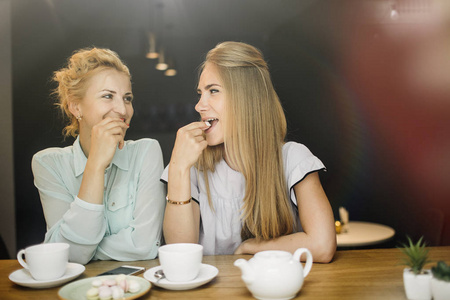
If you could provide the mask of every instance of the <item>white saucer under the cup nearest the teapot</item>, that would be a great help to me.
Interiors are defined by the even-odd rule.
[[[167,280],[166,278],[163,278],[158,281],[158,278],[156,278],[154,274],[156,271],[160,269],[161,266],[148,269],[144,273],[144,278],[156,286],[174,291],[194,289],[207,282],[210,282],[214,277],[217,276],[217,274],[219,274],[219,270],[216,267],[207,264],[202,264],[200,266],[200,273],[194,280],[184,282],[173,282]]]

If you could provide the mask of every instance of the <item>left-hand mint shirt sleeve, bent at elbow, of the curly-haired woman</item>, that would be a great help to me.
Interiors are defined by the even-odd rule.
[[[69,260],[86,264],[94,256],[106,230],[103,205],[78,199],[65,180],[72,168],[51,155],[35,155],[32,160],[34,184],[39,191],[47,233],[44,242],[70,245]],[[71,175],[73,177],[73,174]]]

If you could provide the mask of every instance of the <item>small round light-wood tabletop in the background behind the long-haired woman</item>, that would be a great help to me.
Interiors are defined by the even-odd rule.
[[[380,244],[391,239],[395,230],[389,226],[350,221],[347,225],[347,232],[337,234],[337,245],[339,247],[357,247]]]

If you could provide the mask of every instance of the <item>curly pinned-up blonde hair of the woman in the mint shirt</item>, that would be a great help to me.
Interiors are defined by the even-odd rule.
[[[131,79],[128,67],[122,62],[119,55],[109,49],[84,48],[74,52],[67,60],[67,67],[53,74],[53,80],[58,87],[53,90],[56,96],[56,105],[61,109],[68,124],[63,129],[64,136],[76,137],[79,133],[79,124],[69,110],[71,101],[80,101],[89,85],[89,79],[105,69],[115,69]]]

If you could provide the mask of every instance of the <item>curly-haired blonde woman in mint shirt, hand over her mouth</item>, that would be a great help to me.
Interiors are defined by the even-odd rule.
[[[47,233],[70,244],[69,259],[143,260],[162,239],[162,152],[153,139],[125,141],[133,117],[131,75],[117,53],[76,51],[54,73],[57,105],[72,146],[33,156]]]

